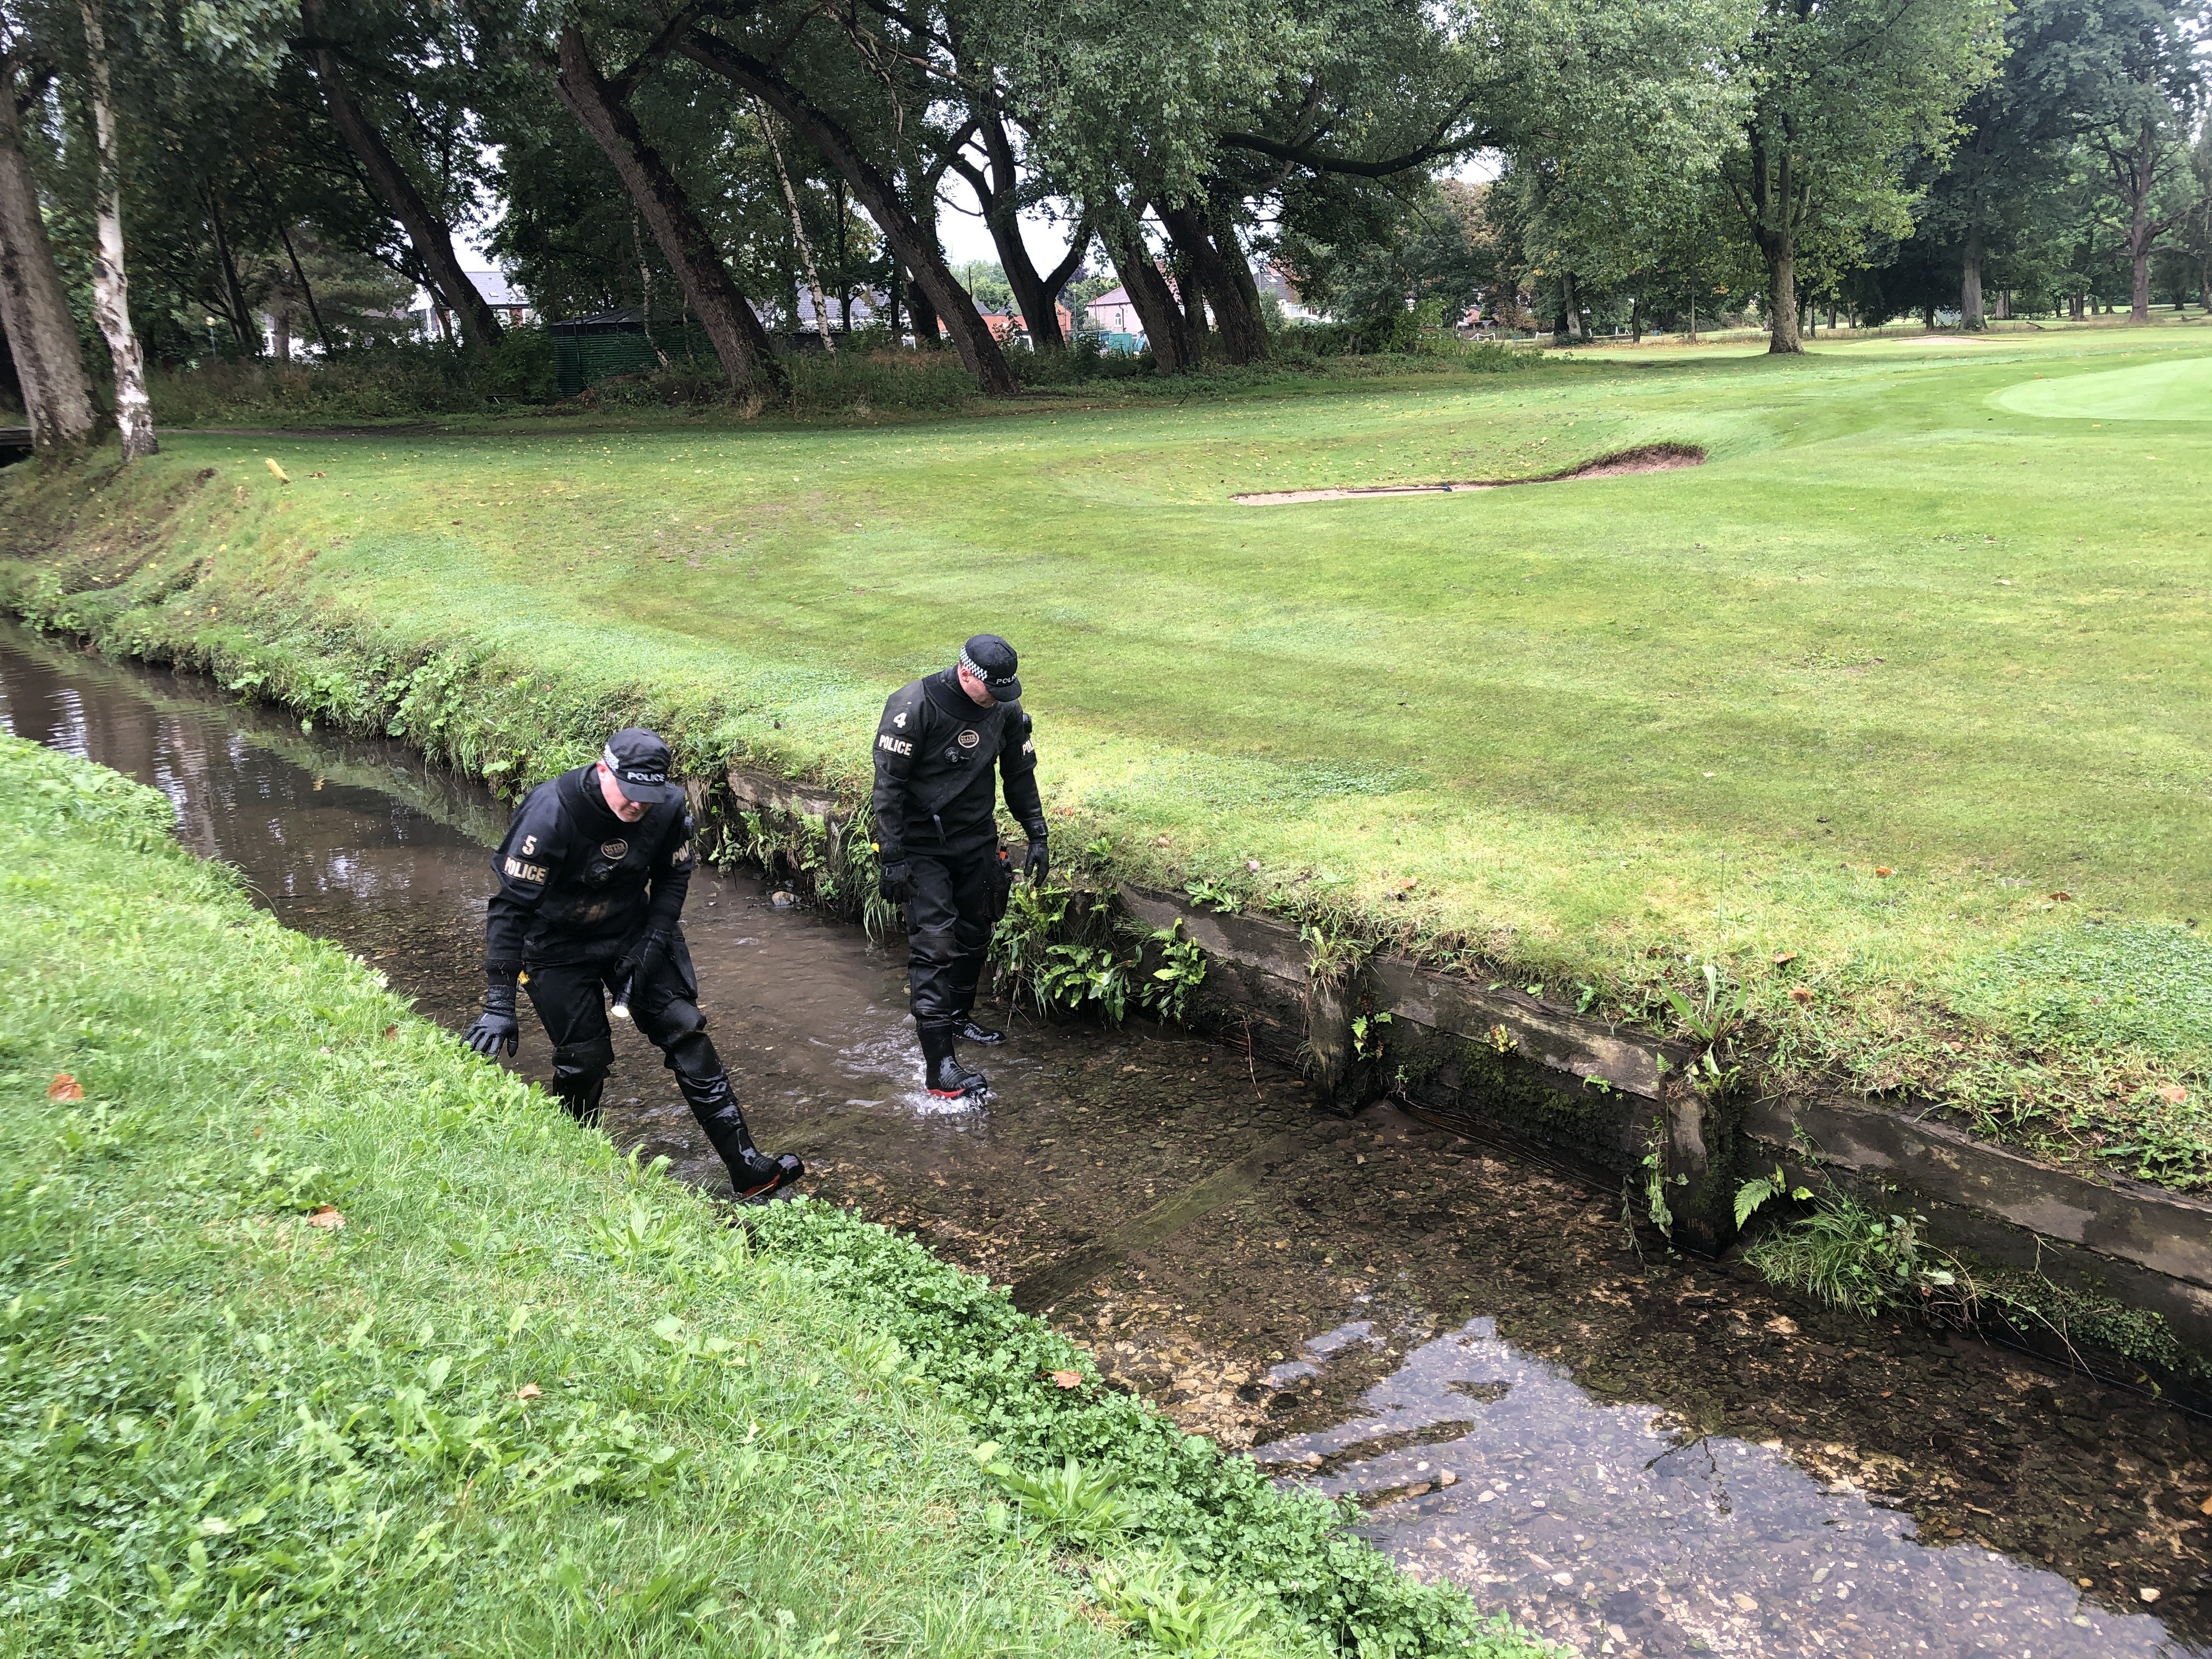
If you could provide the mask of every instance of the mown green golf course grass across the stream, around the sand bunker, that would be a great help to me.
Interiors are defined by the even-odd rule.
[[[2201,1190],[2208,358],[2177,325],[898,425],[186,436],[18,484],[0,580],[502,779],[648,717],[692,763],[858,785],[883,695],[993,628],[1064,849],[1630,1020],[1719,962],[1781,1079]],[[2075,378],[2137,418],[2008,403]],[[1712,460],[1230,500],[1644,442]],[[2126,998],[2088,989],[2112,960]]]

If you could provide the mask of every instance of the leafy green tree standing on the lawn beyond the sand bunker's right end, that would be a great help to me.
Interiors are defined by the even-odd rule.
[[[2004,0],[1759,0],[1752,100],[1721,179],[1767,270],[1770,352],[1801,352],[1798,248],[1911,228],[1905,161],[1942,155],[1995,71]]]

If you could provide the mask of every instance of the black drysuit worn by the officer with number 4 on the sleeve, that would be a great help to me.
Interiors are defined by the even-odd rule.
[[[953,668],[891,692],[876,728],[876,845],[907,865],[914,1024],[951,1029],[975,1006],[998,878],[998,787],[1044,838],[1037,745],[1020,703],[980,708]]]

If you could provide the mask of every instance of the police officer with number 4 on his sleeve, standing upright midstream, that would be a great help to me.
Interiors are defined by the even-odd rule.
[[[1004,1042],[971,1018],[998,916],[998,779],[1029,832],[1029,878],[1044,880],[1037,745],[1022,712],[1013,646],[980,633],[960,661],[900,686],[876,728],[876,849],[883,896],[907,907],[907,980],[931,1095],[980,1095],[989,1079],[953,1044]]]

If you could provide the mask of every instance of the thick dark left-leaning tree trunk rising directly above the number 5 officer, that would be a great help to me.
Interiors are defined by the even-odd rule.
[[[553,75],[560,102],[582,122],[613,164],[622,188],[653,228],[653,241],[684,283],[684,299],[714,345],[730,396],[745,400],[785,387],[768,330],[745,299],[684,186],[661,153],[646,142],[624,97],[599,73],[582,31],[560,33],[560,64]]]

